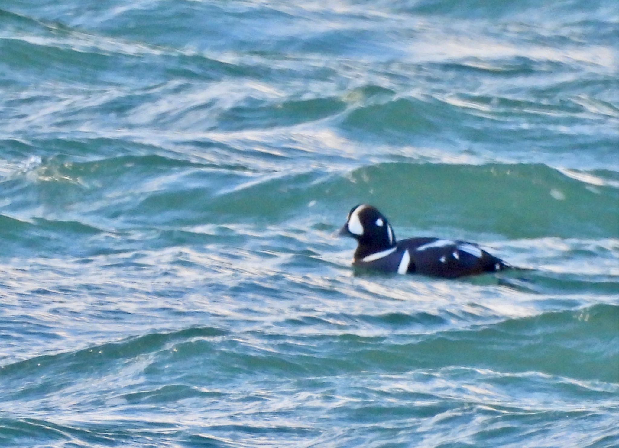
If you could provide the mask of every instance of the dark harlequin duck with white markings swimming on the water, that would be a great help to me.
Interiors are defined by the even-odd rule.
[[[439,238],[410,238],[396,242],[387,218],[367,204],[355,205],[339,235],[358,242],[353,266],[398,274],[455,278],[508,269],[503,260],[477,244]]]

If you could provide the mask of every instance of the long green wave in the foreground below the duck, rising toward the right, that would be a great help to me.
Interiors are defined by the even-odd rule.
[[[140,362],[149,374],[175,360],[175,363],[219,363],[219,369],[246,373],[256,370],[292,375],[320,372],[338,375],[350,371],[401,373],[410,369],[459,366],[509,373],[531,371],[586,381],[619,381],[615,369],[619,363],[619,306],[616,304],[542,312],[473,324],[468,329],[445,328],[445,319],[450,319],[447,315],[430,316],[430,321],[428,316],[425,312],[349,316],[371,325],[404,325],[409,329],[409,332],[376,337],[350,334],[345,327],[338,333],[300,335],[256,330],[230,332],[214,327],[152,333],[7,364],[0,369],[0,381],[12,384],[25,378],[39,378],[28,386],[37,393],[43,384],[52,389],[65,387],[60,381],[64,376],[105,376],[122,369],[127,361],[143,359],[149,359]],[[287,322],[286,326],[292,330],[288,324],[316,325],[316,321]],[[410,332],[415,328],[417,332]],[[428,332],[429,329],[432,331]],[[40,371],[46,375],[40,377]],[[181,377],[183,372],[171,372],[170,376]],[[50,381],[56,382],[56,386]]]

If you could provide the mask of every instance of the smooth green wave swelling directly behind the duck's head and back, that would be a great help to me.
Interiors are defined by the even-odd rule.
[[[617,197],[614,186],[592,187],[544,165],[396,162],[364,166],[346,176],[267,176],[220,192],[204,205],[214,212],[210,219],[273,220],[310,203],[335,216],[350,204],[370,202],[396,226],[423,231],[451,227],[504,238],[613,238],[619,225]]]

